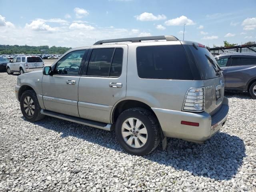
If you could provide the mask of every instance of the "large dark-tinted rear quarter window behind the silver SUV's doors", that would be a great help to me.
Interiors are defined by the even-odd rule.
[[[136,54],[140,78],[194,79],[182,45],[141,46]]]

